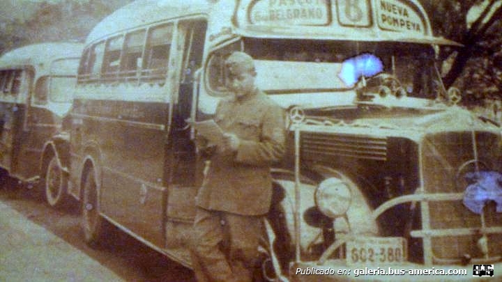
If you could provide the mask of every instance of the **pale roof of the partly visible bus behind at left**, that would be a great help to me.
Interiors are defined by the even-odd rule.
[[[82,56],[82,43],[50,42],[26,45],[13,49],[0,57],[0,68],[21,65],[50,65],[59,58],[79,58]]]

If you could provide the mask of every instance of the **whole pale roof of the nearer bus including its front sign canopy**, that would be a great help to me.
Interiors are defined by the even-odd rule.
[[[335,0],[137,0],[103,19],[91,31],[86,44],[166,19],[209,15],[208,38],[214,45],[236,35],[459,45],[433,36],[429,17],[417,0],[350,2],[358,5],[358,17],[349,14],[353,7],[347,7],[348,3]]]

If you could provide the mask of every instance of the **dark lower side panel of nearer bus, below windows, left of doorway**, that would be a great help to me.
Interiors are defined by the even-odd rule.
[[[77,99],[74,105],[73,146],[99,149],[101,212],[161,245],[167,104]]]

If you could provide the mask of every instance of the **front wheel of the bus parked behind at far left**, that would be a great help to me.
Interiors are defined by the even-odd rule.
[[[51,207],[62,207],[68,201],[68,175],[53,156],[45,171],[45,200]]]

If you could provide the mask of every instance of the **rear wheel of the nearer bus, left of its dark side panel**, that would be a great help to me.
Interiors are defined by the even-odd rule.
[[[82,230],[91,247],[102,246],[106,238],[106,220],[100,215],[98,185],[91,169],[85,175],[82,191]]]

